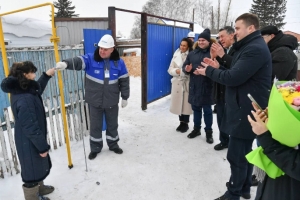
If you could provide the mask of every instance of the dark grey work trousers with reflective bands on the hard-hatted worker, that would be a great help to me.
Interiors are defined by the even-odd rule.
[[[90,147],[92,152],[100,152],[103,148],[102,123],[103,113],[106,121],[106,142],[110,149],[118,148],[118,115],[119,106],[98,108],[90,105]]]

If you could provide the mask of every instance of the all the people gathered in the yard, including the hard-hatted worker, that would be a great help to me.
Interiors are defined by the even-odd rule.
[[[267,175],[257,189],[256,200],[300,199],[300,151],[272,139],[266,127],[267,116],[253,108],[250,93],[262,108],[268,104],[273,77],[280,80],[296,78],[297,57],[293,49],[297,40],[274,26],[259,29],[256,15],[245,13],[235,21],[235,30],[226,26],[219,30],[218,42],[211,39],[209,29],[198,36],[196,45],[183,38],[172,58],[168,73],[173,76],[170,111],[179,116],[179,132],[189,129],[193,114],[193,130],[187,135],[201,135],[202,112],[206,142],[213,141],[213,114],[217,105],[220,143],[214,149],[228,148],[227,159],[231,176],[227,191],[216,200],[250,199],[253,165],[245,155],[252,150],[255,138],[264,153],[285,175],[271,179]],[[41,94],[56,70],[84,70],[85,101],[90,106],[90,149],[93,160],[103,148],[102,119],[107,123],[106,140],[109,150],[122,154],[119,147],[118,111],[127,106],[129,75],[110,35],[104,35],[94,53],[58,62],[35,81],[37,68],[30,61],[14,63],[1,89],[11,93],[15,118],[15,141],[24,182],[26,200],[48,200],[44,195],[54,191],[44,185],[51,160],[48,154],[47,124]],[[252,111],[255,109],[256,111]],[[251,112],[252,111],[252,112]],[[254,116],[251,118],[249,115]],[[104,115],[103,115],[104,114]]]

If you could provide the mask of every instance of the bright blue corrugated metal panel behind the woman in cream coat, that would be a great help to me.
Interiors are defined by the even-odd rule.
[[[147,31],[147,102],[171,93],[168,74],[174,51],[190,29],[160,24],[148,24]]]

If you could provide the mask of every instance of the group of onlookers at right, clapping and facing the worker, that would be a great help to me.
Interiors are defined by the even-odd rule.
[[[189,33],[187,38],[192,35]],[[194,127],[187,137],[199,136],[203,110],[206,141],[213,143],[211,105],[216,104],[220,143],[214,149],[228,148],[231,168],[231,176],[224,184],[227,191],[216,200],[251,198],[255,176],[245,156],[252,150],[255,138],[264,153],[286,173],[277,179],[266,176],[258,184],[256,200],[300,199],[300,151],[272,139],[266,127],[267,116],[247,97],[251,94],[262,108],[267,108],[273,79],[296,79],[297,57],[293,50],[298,46],[297,39],[276,26],[260,29],[258,17],[245,13],[236,19],[235,30],[230,26],[220,29],[218,40],[213,41],[205,29],[198,36],[196,48],[182,48],[183,43],[188,43],[184,38],[174,53],[168,72],[173,76],[170,111],[180,120],[176,130],[188,130],[192,109]]]

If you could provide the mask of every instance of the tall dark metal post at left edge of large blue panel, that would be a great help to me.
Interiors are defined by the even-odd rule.
[[[148,21],[147,21],[147,14],[142,13],[141,14],[141,63],[142,63],[142,110],[147,109],[147,71],[148,71],[148,65],[147,65],[147,35],[148,35]]]

